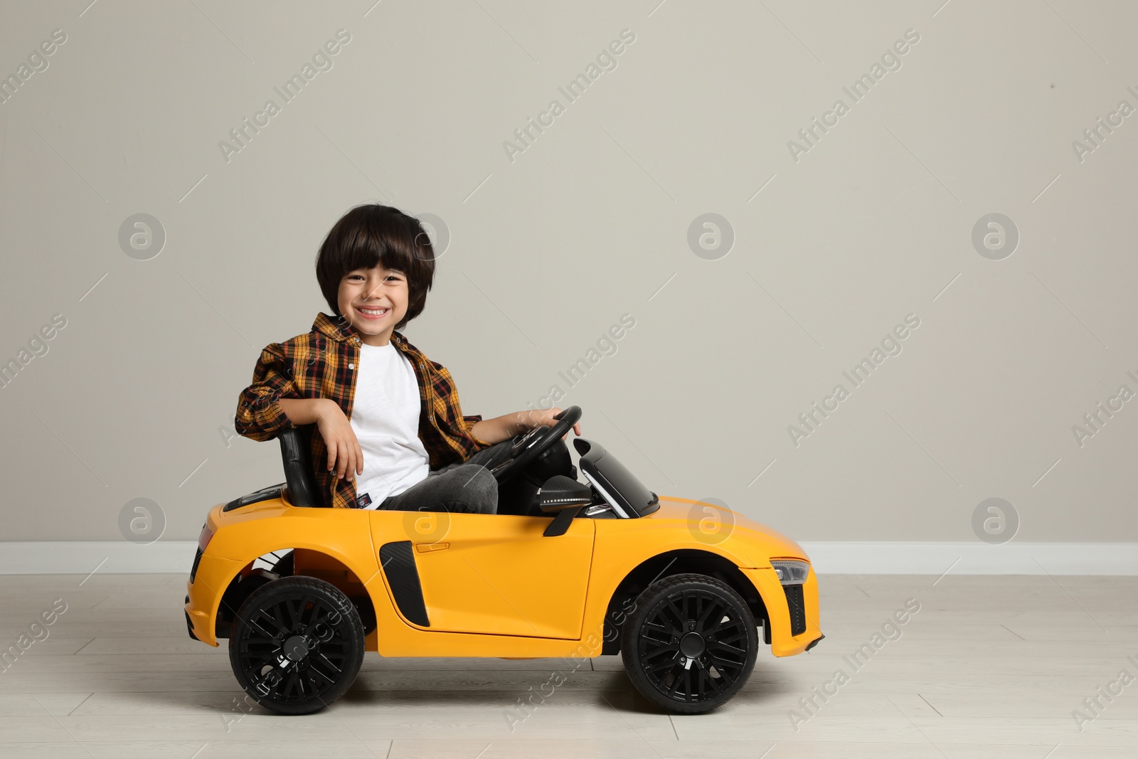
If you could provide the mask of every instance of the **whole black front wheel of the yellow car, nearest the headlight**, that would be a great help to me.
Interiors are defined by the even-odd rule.
[[[751,676],[759,636],[747,602],[706,575],[657,580],[621,628],[625,670],[641,695],[679,715],[726,703]]]

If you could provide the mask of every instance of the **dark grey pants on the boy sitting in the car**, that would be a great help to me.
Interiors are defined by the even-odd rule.
[[[379,509],[390,511],[448,511],[469,514],[497,512],[497,480],[489,470],[510,457],[513,440],[495,443],[462,462],[439,467]]]

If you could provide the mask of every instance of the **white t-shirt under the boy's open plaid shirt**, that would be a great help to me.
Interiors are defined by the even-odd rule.
[[[411,361],[390,341],[362,344],[355,371],[351,424],[363,451],[356,502],[362,509],[377,509],[387,496],[427,479],[430,471],[430,457],[419,439],[419,382]]]

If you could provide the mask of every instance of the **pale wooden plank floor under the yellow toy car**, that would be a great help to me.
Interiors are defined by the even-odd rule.
[[[1138,578],[934,580],[823,577],[826,640],[790,659],[764,647],[747,687],[702,717],[652,709],[617,657],[574,671],[374,653],[331,709],[280,717],[246,703],[224,647],[187,636],[183,576],[2,576],[0,649],[56,599],[67,610],[0,673],[0,757],[1136,756],[1138,682],[1110,702],[1098,688],[1116,692],[1122,669],[1138,677]],[[921,607],[900,637],[887,626],[896,640],[874,641],[909,599]],[[844,658],[874,642],[859,668]],[[554,670],[568,679],[522,719],[519,698]],[[1083,704],[1096,696],[1097,717]],[[1073,710],[1095,718],[1080,729]]]

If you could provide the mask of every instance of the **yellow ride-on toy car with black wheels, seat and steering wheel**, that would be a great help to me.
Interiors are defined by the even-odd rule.
[[[516,438],[492,470],[500,482],[558,447],[568,456],[562,436],[579,418],[571,406]],[[701,713],[747,682],[759,627],[776,657],[823,637],[798,544],[729,510],[658,497],[595,443],[574,439],[586,481],[576,467],[547,479],[531,512],[369,511],[312,508],[311,431],[279,438],[286,482],[211,509],[187,586],[190,637],[229,638],[233,674],[269,709],[330,704],[364,651],[619,652],[649,701]]]

